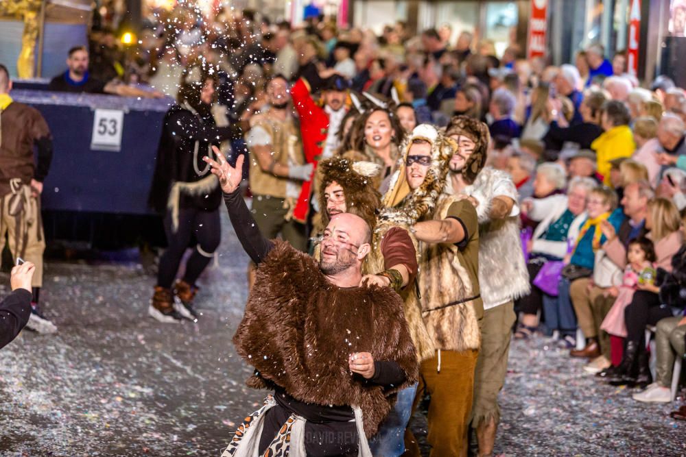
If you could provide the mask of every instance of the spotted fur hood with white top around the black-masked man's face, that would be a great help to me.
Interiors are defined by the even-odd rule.
[[[405,177],[405,160],[414,140],[429,142],[431,165],[421,186],[411,190]],[[388,192],[383,195],[382,203],[386,209],[381,212],[380,219],[409,226],[433,214],[436,201],[445,186],[448,161],[456,148],[456,143],[438,133],[435,127],[429,124],[414,127],[412,135],[403,144],[401,163],[391,177]]]

